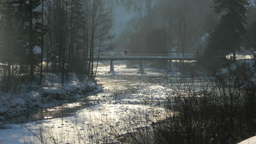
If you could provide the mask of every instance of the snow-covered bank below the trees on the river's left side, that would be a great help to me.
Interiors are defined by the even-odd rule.
[[[32,109],[65,103],[68,100],[85,97],[98,91],[101,91],[101,87],[89,80],[81,82],[76,76],[72,76],[62,86],[59,77],[54,74],[46,74],[41,85],[21,84],[17,94],[0,92],[0,120]]]

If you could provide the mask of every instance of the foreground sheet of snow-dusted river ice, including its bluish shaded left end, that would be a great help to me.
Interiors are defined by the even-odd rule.
[[[149,126],[154,120],[152,116],[162,112],[164,110],[161,108],[146,105],[98,104],[70,117],[5,125],[7,129],[0,130],[0,137],[5,144],[21,144],[24,141],[39,143],[33,133],[39,137],[42,135],[42,139],[48,143],[53,140],[51,137],[57,143],[90,143],[92,140],[103,141],[104,137],[108,138],[113,133],[113,137],[109,137],[113,140],[114,137],[134,131],[134,128],[141,128],[141,119]]]

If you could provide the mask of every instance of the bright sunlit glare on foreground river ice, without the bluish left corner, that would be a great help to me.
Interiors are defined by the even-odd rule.
[[[81,110],[72,117],[44,120],[40,124],[29,123],[26,127],[38,135],[38,130],[41,130],[45,136],[43,139],[54,135],[58,142],[114,142],[118,136],[140,129],[141,122],[144,127],[145,124],[150,126],[154,121],[153,116],[162,112],[164,110],[161,108],[146,105],[99,104]],[[25,137],[26,140],[31,138],[29,135]]]

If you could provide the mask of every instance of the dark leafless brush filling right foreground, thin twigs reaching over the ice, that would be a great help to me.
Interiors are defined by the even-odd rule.
[[[164,83],[169,91],[165,101],[145,98],[143,104],[133,106],[132,115],[109,111],[90,115],[87,124],[85,119],[75,119],[73,136],[57,135],[50,129],[34,135],[48,143],[236,143],[254,135],[256,128],[255,71],[250,67],[228,62],[212,68],[211,77],[172,75]],[[65,131],[64,125],[60,127]]]

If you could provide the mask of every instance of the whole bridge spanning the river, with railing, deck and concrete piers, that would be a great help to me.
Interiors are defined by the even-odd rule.
[[[89,56],[88,56],[89,57]],[[113,60],[140,60],[139,73],[146,74],[144,71],[143,60],[170,60],[171,68],[173,69],[172,60],[179,61],[198,61],[201,55],[181,55],[181,54],[125,54],[125,55],[99,55],[94,56],[94,60],[110,60],[110,72],[115,74]]]

